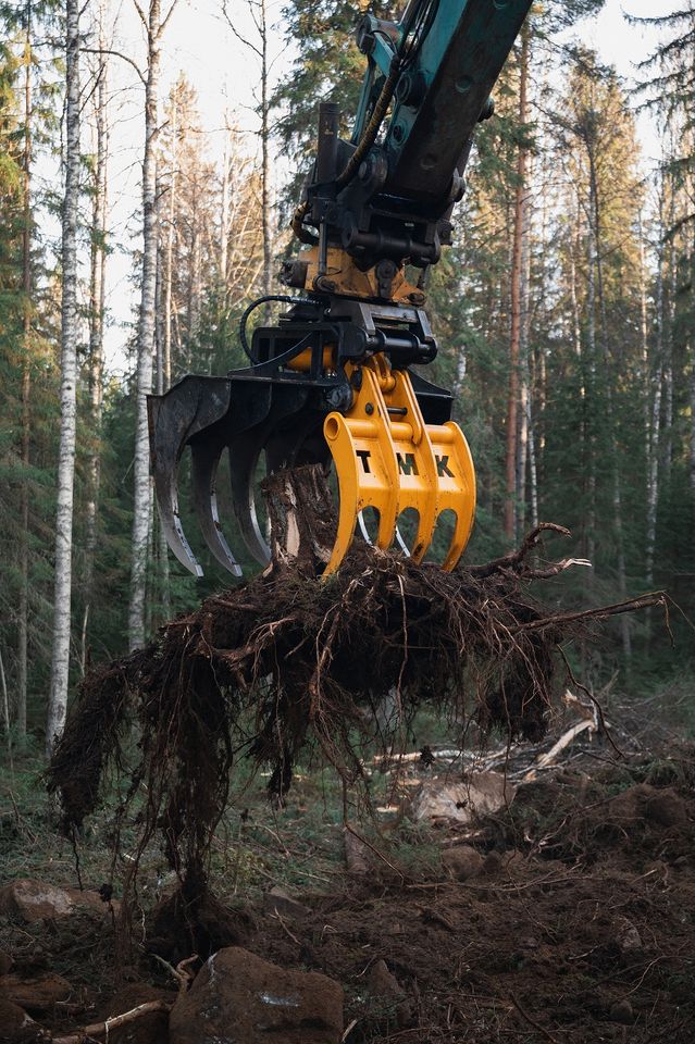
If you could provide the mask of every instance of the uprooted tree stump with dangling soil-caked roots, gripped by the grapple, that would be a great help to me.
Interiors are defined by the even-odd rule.
[[[187,907],[206,894],[212,838],[239,758],[271,767],[276,800],[308,744],[359,786],[364,745],[393,746],[377,713],[388,693],[401,723],[429,705],[475,721],[483,734],[498,728],[510,739],[539,739],[556,672],[568,669],[560,644],[592,618],[661,600],[545,610],[529,581],[573,563],[530,561],[545,532],[567,535],[553,524],[513,554],[452,573],[356,545],[323,581],[318,572],[334,521],[322,472],[277,473],[265,496],[272,566],[169,623],[147,647],[92,670],[48,771],[74,830],[97,806],[108,765],[121,763],[135,718],[139,757],[121,819],[136,794],[146,798],[131,880],[159,831]]]

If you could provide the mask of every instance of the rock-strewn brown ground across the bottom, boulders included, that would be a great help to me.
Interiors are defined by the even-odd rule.
[[[430,809],[426,826],[405,815],[417,797],[404,807],[392,793],[378,830],[324,816],[309,836],[318,798],[299,780],[284,813],[237,812],[219,900],[196,925],[171,883],[150,882],[131,946],[108,890],[57,887],[69,849],[45,859],[40,883],[5,862],[0,1040],[104,1041],[104,1020],[127,1014],[111,1044],[691,1044],[695,749],[619,756],[583,742],[589,731],[545,767],[564,726],[541,751],[488,758],[485,774],[507,779],[499,807],[466,798],[480,767],[413,758],[400,793],[424,784],[454,809]],[[2,822],[18,868],[21,809]],[[98,888],[97,866],[83,857],[82,871]]]

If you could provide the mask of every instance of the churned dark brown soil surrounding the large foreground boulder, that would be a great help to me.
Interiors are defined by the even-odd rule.
[[[84,1024],[95,1007],[113,1011],[124,979],[169,985],[158,995],[173,1003],[153,949],[174,962],[200,947],[201,968],[206,947],[240,943],[337,982],[346,1044],[691,1044],[695,750],[606,757],[521,784],[508,809],[473,824],[481,858],[463,880],[444,867],[422,879],[394,872],[389,854],[390,866],[300,893],[281,916],[272,904],[239,912],[219,899],[197,924],[170,897],[147,915],[146,944],[127,966],[84,913],[72,930],[5,918],[0,947],[13,975],[70,979],[83,1014],[36,1015],[54,1031]],[[435,836],[456,850],[451,830]]]

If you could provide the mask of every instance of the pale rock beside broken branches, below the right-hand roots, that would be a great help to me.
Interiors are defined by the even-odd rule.
[[[469,772],[460,783],[429,780],[414,794],[409,815],[415,820],[470,823],[506,807],[516,793],[501,772]]]

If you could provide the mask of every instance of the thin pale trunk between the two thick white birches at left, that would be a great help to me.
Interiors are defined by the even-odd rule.
[[[103,11],[99,12],[98,86],[95,97],[95,181],[91,207],[91,256],[89,277],[89,423],[91,445],[87,458],[88,499],[85,519],[85,609],[82,627],[80,667],[86,669],[91,612],[95,555],[97,549],[97,511],[101,480],[101,419],[103,400],[103,318],[106,306],[107,265],[107,157],[109,128],[107,125],[108,71],[103,54],[107,40],[103,33]]]

